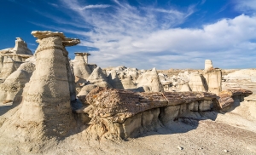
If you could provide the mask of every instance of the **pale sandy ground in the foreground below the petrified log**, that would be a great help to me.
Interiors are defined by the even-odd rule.
[[[222,114],[219,114],[222,115]],[[220,116],[218,119],[234,115]],[[236,119],[236,118],[235,118]],[[179,120],[128,141],[94,141],[85,133],[61,141],[47,154],[256,154],[256,132],[225,120]],[[236,126],[237,125],[237,126]],[[253,123],[256,129],[256,123]],[[179,148],[178,148],[179,147]]]

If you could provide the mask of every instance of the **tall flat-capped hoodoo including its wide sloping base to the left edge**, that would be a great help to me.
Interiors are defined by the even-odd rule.
[[[39,43],[35,71],[22,95],[18,99],[15,96],[14,109],[0,119],[0,146],[19,145],[25,152],[38,152],[46,141],[54,142],[75,128],[71,107],[74,79],[65,46],[76,45],[79,39],[67,38],[61,32],[32,35]],[[23,78],[24,74],[19,75],[14,77]]]

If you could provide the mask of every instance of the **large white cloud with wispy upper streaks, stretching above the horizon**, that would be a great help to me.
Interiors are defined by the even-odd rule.
[[[106,12],[100,7],[82,9],[75,0],[61,2],[78,14],[70,14],[75,17],[73,25],[84,24],[92,27],[91,31],[51,27],[85,37],[81,46],[99,49],[91,51],[89,59],[98,66],[203,68],[206,59],[212,59],[214,66],[222,68],[256,66],[256,16],[241,14],[201,28],[178,28],[194,13],[193,6],[181,12],[135,7],[114,0],[108,7],[111,10]]]

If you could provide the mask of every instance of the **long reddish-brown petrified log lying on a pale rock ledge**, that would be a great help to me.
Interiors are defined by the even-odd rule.
[[[134,93],[122,89],[96,88],[86,96],[88,106],[85,113],[92,118],[108,118],[112,122],[123,123],[139,112],[162,106],[177,106],[199,100],[212,100],[217,96],[207,92],[166,92]]]

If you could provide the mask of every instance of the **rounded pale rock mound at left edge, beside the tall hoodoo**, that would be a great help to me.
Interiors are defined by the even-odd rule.
[[[13,72],[4,83],[0,84],[0,102],[4,100],[14,100],[15,95],[25,87],[35,70],[35,65],[26,62],[20,65],[17,71]]]

